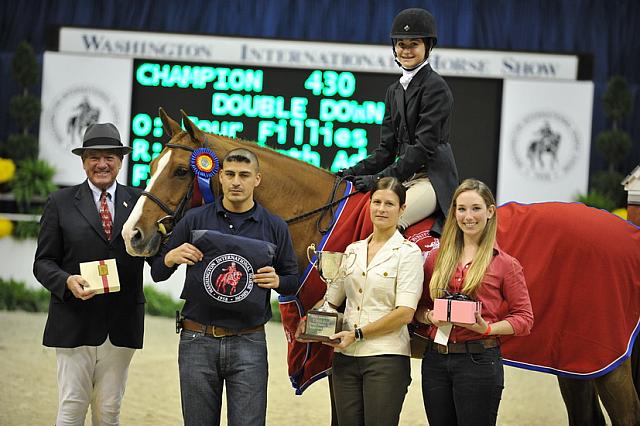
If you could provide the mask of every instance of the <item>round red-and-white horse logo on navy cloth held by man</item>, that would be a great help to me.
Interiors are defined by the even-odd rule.
[[[209,296],[219,302],[240,302],[253,289],[253,267],[240,255],[223,254],[209,262],[203,284]]]

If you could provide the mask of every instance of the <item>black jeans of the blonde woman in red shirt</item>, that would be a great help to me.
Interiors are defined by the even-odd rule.
[[[504,388],[500,348],[422,359],[422,399],[431,426],[495,425]]]

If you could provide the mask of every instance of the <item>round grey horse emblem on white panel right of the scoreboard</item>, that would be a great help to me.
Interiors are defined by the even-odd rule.
[[[567,175],[582,152],[577,127],[565,115],[537,111],[525,116],[511,134],[511,154],[528,177],[552,181]]]

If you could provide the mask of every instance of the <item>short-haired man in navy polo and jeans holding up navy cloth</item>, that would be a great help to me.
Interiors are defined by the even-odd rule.
[[[268,293],[275,289],[280,294],[294,294],[298,289],[298,266],[286,223],[253,199],[254,189],[261,180],[255,154],[247,149],[230,151],[222,161],[219,180],[223,192],[221,199],[185,215],[153,260],[151,274],[156,282],[164,281],[179,264],[195,265],[194,268],[203,265],[200,262],[206,254],[191,243],[194,230],[248,237],[275,246],[273,265],[259,267],[253,274],[247,274],[252,277],[252,283],[267,289],[265,302],[259,308],[254,305],[251,312],[225,309],[224,306],[217,308],[206,293],[205,297],[190,297],[188,294],[193,293],[186,289],[193,283],[185,283],[182,294],[184,320],[178,352],[185,425],[220,424],[225,382],[228,424],[264,425],[268,376],[264,324],[271,318]],[[235,259],[237,256],[227,257]],[[212,264],[213,261],[209,265]],[[229,266],[219,269],[228,273]],[[234,263],[233,268],[240,266]],[[250,265],[247,267],[251,268]],[[209,269],[211,267],[207,266]],[[187,276],[189,281],[189,273]],[[229,277],[225,275],[224,278]],[[206,274],[200,281],[201,286],[206,286]],[[218,280],[218,284],[221,281]],[[213,296],[213,288],[208,288]],[[222,290],[218,288],[217,291]]]

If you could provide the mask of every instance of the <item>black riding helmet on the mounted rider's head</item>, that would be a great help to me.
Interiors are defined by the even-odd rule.
[[[436,19],[424,9],[412,7],[398,13],[391,24],[391,47],[396,56],[395,41],[402,38],[421,38],[429,50],[438,42]],[[429,40],[431,39],[431,43]]]

